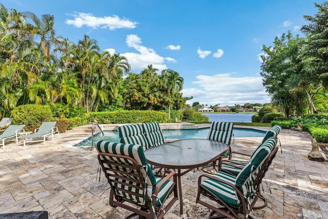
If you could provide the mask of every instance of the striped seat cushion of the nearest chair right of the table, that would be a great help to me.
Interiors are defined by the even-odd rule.
[[[233,176],[228,173],[217,172],[213,176],[220,178],[221,180],[224,180],[226,182],[229,182],[233,185],[235,185],[236,183],[236,176]],[[212,193],[214,193],[217,197],[219,197],[224,203],[228,204],[229,206],[233,206],[236,208],[240,207],[240,198],[238,197],[236,190],[231,186],[212,180],[210,178],[201,182],[201,185]],[[202,191],[209,194],[204,189],[202,189]]]

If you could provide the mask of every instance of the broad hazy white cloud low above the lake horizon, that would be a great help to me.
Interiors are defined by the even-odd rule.
[[[183,96],[194,97],[187,101],[190,105],[194,102],[208,105],[219,103],[220,106],[270,103],[270,97],[262,85],[262,77],[234,77],[233,74],[198,75],[193,84],[200,88],[183,89]]]

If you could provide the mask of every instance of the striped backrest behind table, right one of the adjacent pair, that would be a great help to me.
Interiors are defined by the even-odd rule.
[[[146,133],[147,140],[149,141],[149,146],[154,147],[165,144],[163,132],[158,122],[144,123],[142,124],[142,128]]]

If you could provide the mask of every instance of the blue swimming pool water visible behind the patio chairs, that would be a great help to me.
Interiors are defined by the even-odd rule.
[[[180,138],[206,138],[209,133],[209,128],[202,129],[174,129],[163,130],[166,139],[180,139]],[[104,140],[110,142],[119,142],[118,131],[104,131]],[[234,128],[234,137],[263,137],[265,131],[256,129]],[[94,135],[93,142],[101,140],[101,133]],[[80,142],[74,146],[91,146],[91,137]]]

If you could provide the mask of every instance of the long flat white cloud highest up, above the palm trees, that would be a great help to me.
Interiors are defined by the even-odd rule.
[[[133,29],[138,24],[137,22],[132,22],[127,18],[120,18],[117,15],[96,17],[91,13],[81,13],[76,12],[70,14],[74,19],[66,19],[66,24],[73,25],[74,27],[80,28],[84,25],[92,28],[109,28],[110,30],[120,29],[120,28],[130,28]]]

